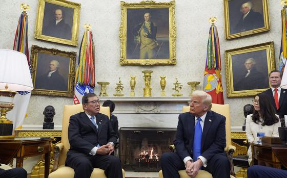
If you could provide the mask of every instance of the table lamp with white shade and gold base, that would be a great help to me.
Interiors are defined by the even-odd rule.
[[[6,118],[14,107],[17,91],[33,90],[27,57],[10,49],[0,49],[0,139],[13,138],[13,123]],[[17,119],[17,118],[15,118]]]

